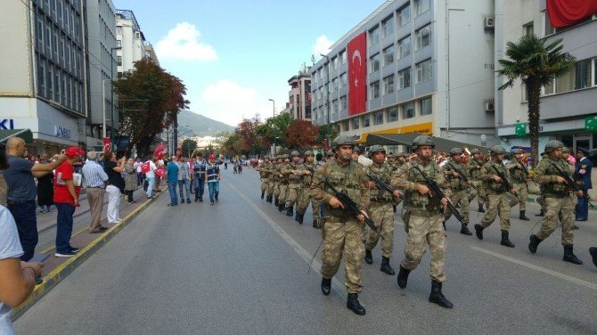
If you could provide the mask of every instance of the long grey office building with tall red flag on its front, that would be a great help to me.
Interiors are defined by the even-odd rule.
[[[309,70],[313,122],[341,133],[422,133],[492,144],[494,1],[390,0],[331,46]],[[359,53],[349,44],[366,38]],[[351,69],[366,79],[349,82]],[[349,112],[349,86],[366,85]]]

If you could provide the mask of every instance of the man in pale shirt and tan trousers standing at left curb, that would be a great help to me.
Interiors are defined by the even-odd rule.
[[[108,175],[103,171],[103,167],[95,160],[97,152],[87,152],[87,160],[83,166],[84,186],[89,202],[89,211],[91,212],[91,224],[89,233],[102,233],[108,228],[102,226],[103,194],[108,184]]]

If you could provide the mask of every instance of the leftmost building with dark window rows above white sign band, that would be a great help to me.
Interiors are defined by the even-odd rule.
[[[29,128],[29,153],[85,143],[85,3],[0,2],[0,127]]]

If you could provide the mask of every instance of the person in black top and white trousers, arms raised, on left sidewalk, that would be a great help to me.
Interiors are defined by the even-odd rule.
[[[122,180],[122,170],[125,168],[125,157],[116,159],[113,152],[106,152],[103,154],[103,171],[108,175],[108,186],[106,192],[108,193],[108,223],[120,223],[119,207],[120,207],[120,187],[124,184]]]

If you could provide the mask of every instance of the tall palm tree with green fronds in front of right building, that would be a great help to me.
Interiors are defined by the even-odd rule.
[[[497,75],[508,81],[498,89],[514,85],[520,79],[527,88],[528,99],[528,133],[531,140],[531,157],[533,166],[539,161],[539,116],[541,87],[553,83],[555,78],[566,74],[575,64],[576,59],[569,53],[561,53],[562,39],[556,39],[548,44],[545,38],[535,35],[520,37],[517,43],[506,44],[508,60],[499,60],[502,69]]]

